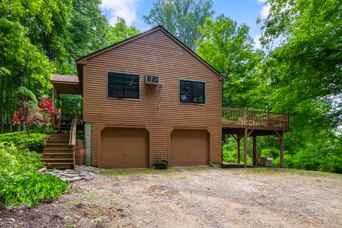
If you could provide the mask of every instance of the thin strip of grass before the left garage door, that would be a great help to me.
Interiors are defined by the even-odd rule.
[[[174,172],[175,168],[170,167],[166,170],[157,170],[155,168],[141,168],[141,169],[113,169],[113,170],[100,170],[101,175],[105,176],[126,176],[126,175],[142,175],[142,174],[164,174]]]

